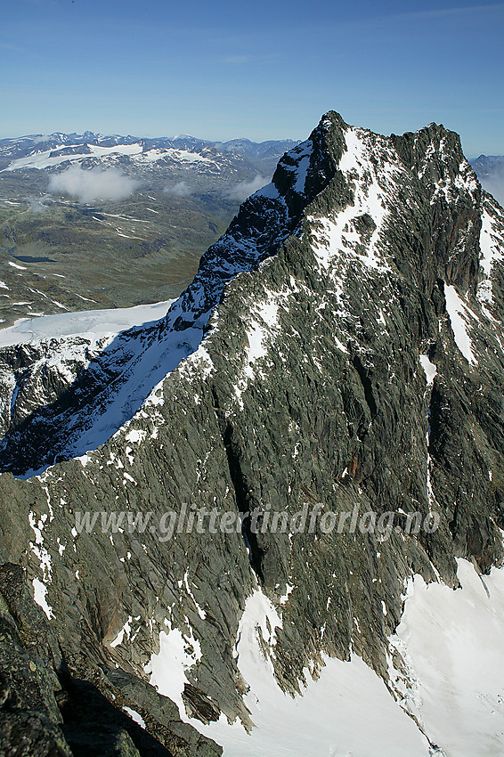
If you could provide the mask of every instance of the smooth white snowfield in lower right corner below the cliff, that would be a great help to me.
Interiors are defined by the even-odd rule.
[[[504,744],[504,569],[480,577],[458,563],[462,589],[410,582],[393,638],[409,666],[402,704],[449,757],[496,757]]]

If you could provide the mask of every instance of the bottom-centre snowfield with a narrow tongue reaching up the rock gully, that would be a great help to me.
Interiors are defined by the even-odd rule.
[[[264,648],[274,654],[281,619],[264,594],[248,598],[238,632],[238,667],[250,690],[244,697],[255,728],[229,725],[224,715],[202,727],[224,745],[224,757],[428,757],[427,739],[388,693],[383,680],[352,656],[325,658],[320,678],[306,672],[303,696],[284,694]],[[262,638],[260,643],[259,639]]]

